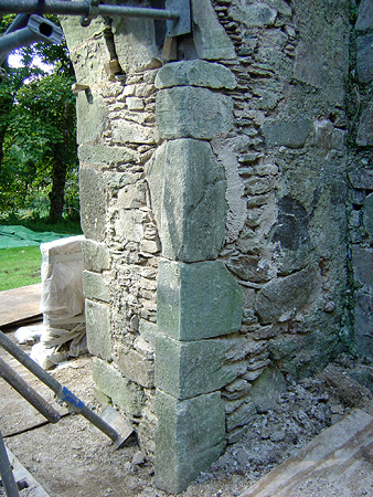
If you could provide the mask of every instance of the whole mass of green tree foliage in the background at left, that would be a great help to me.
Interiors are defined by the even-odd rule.
[[[10,22],[1,19],[0,33]],[[39,43],[19,54],[22,67],[6,62],[0,81],[0,210],[38,216],[47,209],[57,222],[66,210],[78,213],[74,72],[64,44]],[[53,71],[33,65],[35,56]]]

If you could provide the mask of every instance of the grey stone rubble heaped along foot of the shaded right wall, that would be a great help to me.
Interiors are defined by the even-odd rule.
[[[318,377],[294,382],[273,410],[258,415],[241,441],[228,445],[225,454],[200,475],[196,485],[212,483],[224,474],[230,488],[222,488],[213,497],[238,496],[244,480],[246,488],[249,487],[353,408],[371,412],[371,391],[353,378],[364,379],[369,384],[372,371],[371,367],[356,367],[351,359],[342,357]]]

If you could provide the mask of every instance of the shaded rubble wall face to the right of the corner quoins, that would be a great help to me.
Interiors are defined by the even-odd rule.
[[[237,78],[235,126],[215,152],[233,151],[245,201],[242,213],[228,199],[243,222],[221,252],[244,290],[243,378],[269,364],[302,377],[342,347],[350,2],[213,4],[236,52],[223,61]]]

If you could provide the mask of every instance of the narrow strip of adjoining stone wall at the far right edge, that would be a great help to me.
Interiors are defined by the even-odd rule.
[[[354,3],[349,78],[350,308],[356,351],[373,357],[373,2]]]

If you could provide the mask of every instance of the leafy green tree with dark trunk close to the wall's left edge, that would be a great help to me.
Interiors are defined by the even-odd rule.
[[[62,218],[67,170],[77,167],[72,81],[54,72],[22,86],[8,127],[34,187],[50,183],[50,221]],[[32,165],[32,166],[31,166]],[[29,186],[28,186],[29,187]]]

